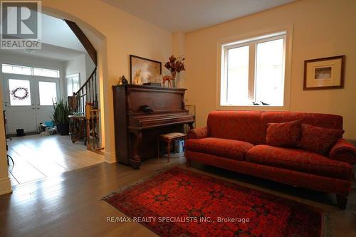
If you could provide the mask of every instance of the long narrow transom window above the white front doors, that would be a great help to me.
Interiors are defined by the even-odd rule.
[[[46,69],[46,68],[32,68],[21,65],[2,65],[3,73],[13,73],[21,75],[39,75],[48,78],[59,78],[59,70]]]

